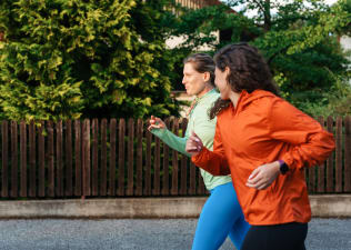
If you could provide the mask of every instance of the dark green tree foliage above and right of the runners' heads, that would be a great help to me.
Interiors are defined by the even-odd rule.
[[[209,53],[213,53],[227,43],[248,41],[260,49],[282,96],[298,108],[308,111],[309,103],[325,108],[332,103],[338,82],[350,79],[350,61],[338,41],[339,36],[351,31],[350,0],[340,0],[332,7],[321,0],[222,2],[244,8],[237,13],[227,6],[188,10],[174,31],[187,38],[179,50],[199,50],[208,44],[212,48]],[[244,16],[249,10],[257,14]],[[220,41],[210,38],[218,30]]]

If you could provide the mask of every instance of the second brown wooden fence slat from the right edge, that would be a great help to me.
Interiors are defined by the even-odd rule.
[[[335,191],[342,192],[342,118],[335,123]]]

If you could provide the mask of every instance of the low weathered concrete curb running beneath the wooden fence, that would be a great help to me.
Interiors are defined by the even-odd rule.
[[[198,218],[207,197],[1,201],[0,219]],[[310,196],[312,217],[351,218],[351,194]]]

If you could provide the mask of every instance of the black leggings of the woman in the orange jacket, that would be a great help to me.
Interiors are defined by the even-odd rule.
[[[252,226],[241,250],[305,250],[308,223]]]

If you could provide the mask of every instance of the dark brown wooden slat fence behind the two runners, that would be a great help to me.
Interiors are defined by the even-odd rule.
[[[167,119],[183,136],[185,119]],[[351,117],[320,119],[337,149],[307,170],[310,193],[351,192]],[[200,171],[147,130],[147,121],[102,119],[1,122],[0,197],[158,197],[207,194]]]

